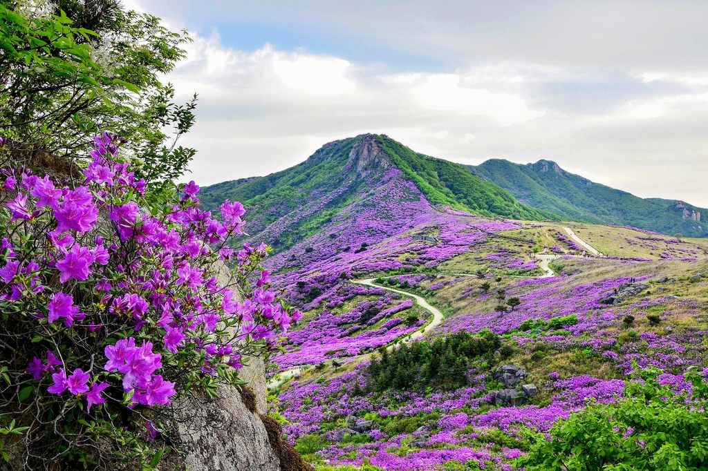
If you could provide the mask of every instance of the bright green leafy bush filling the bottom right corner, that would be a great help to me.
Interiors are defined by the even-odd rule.
[[[708,466],[708,385],[695,371],[692,392],[661,385],[649,369],[627,380],[617,402],[589,405],[547,433],[530,433],[527,471],[704,470]]]

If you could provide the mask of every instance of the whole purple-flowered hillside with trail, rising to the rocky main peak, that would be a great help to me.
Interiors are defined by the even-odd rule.
[[[704,469],[704,241],[556,222],[455,165],[365,135],[202,190],[302,312],[270,365],[288,440],[321,471]]]

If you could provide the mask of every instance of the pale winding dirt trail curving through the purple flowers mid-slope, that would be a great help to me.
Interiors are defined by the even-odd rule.
[[[556,258],[556,255],[537,255],[536,256],[541,262],[539,263],[539,268],[542,269],[545,274],[543,274],[540,277],[528,277],[528,278],[550,278],[554,276],[554,272],[552,269],[548,267],[548,262]],[[456,275],[456,276],[462,276],[462,277],[476,277],[476,274],[469,274],[469,273],[441,273],[441,274],[448,274],[448,275]],[[400,275],[391,275],[389,277],[381,277],[381,278],[395,278],[399,277]],[[421,296],[418,296],[417,294],[409,293],[408,291],[402,291],[400,289],[394,289],[394,288],[389,288],[388,286],[380,286],[378,284],[374,284],[375,278],[367,278],[367,279],[359,279],[359,280],[352,280],[352,283],[357,283],[357,284],[363,284],[366,286],[373,286],[375,288],[381,288],[385,289],[386,291],[391,291],[392,293],[398,293],[403,296],[409,296],[410,298],[413,298],[416,301],[416,304],[418,306],[421,306],[421,308],[428,310],[433,315],[433,319],[430,320],[426,325],[421,327],[421,329],[416,330],[416,332],[413,332],[409,335],[406,335],[404,337],[399,337],[394,340],[391,344],[389,344],[389,349],[393,348],[393,345],[399,342],[410,342],[411,340],[418,339],[420,337],[423,337],[423,335],[426,335],[426,333],[430,332],[430,330],[433,330],[435,327],[438,327],[440,325],[440,322],[445,319],[445,316],[442,315],[440,310],[438,308],[435,308],[433,306],[430,306],[430,303],[425,300],[425,298],[422,298]],[[372,353],[368,354],[363,354],[359,356],[355,356],[355,359],[367,359],[370,356],[372,356]],[[278,375],[276,375],[273,380],[268,383],[268,388],[274,388],[282,383],[285,383],[285,381],[290,380],[292,377],[299,375],[299,373],[302,373],[303,371],[306,371],[309,368],[312,368],[313,365],[307,364],[307,365],[300,365],[300,366],[295,366],[295,368],[290,368],[289,370],[286,371],[281,371]]]

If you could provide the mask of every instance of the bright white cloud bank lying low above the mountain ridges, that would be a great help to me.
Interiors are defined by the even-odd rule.
[[[703,75],[617,76],[513,62],[400,73],[267,44],[234,50],[213,34],[194,35],[188,59],[169,80],[180,99],[200,94],[183,145],[198,149],[188,178],[203,185],[282,170],[327,141],[377,132],[461,163],[547,158],[640,196],[708,207],[695,178],[708,173],[708,89],[685,79]],[[629,98],[615,83],[641,93]],[[583,87],[600,88],[606,104],[576,112],[554,102],[586,99]]]

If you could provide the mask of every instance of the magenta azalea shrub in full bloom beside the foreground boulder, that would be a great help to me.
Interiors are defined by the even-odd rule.
[[[229,246],[240,203],[213,219],[194,182],[147,201],[121,144],[96,138],[79,187],[0,176],[0,451],[25,467],[156,465],[178,399],[242,384],[299,318],[268,248]]]

